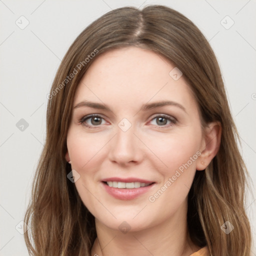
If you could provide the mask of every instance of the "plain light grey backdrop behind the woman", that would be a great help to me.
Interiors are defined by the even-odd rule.
[[[15,226],[20,227],[30,196],[45,139],[46,94],[60,59],[97,17],[117,7],[147,4],[180,11],[210,41],[241,138],[242,155],[255,184],[255,0],[0,0],[0,255],[28,255],[23,235]],[[21,15],[29,21],[24,29],[15,23],[25,24]],[[224,26],[232,21],[226,15],[234,21],[229,29]],[[21,118],[28,123],[23,131],[16,127]],[[248,195],[246,207],[254,240],[255,204],[252,194]],[[252,250],[256,255],[255,245]]]

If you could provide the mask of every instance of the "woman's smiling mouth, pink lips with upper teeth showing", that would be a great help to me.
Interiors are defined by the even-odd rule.
[[[104,189],[114,198],[131,200],[150,190],[155,182],[140,178],[111,177],[102,180]]]

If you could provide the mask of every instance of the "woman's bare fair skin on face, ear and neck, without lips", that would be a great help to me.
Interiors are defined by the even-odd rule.
[[[73,106],[89,100],[110,108],[74,108],[67,134],[66,160],[79,173],[76,189],[95,216],[97,239],[91,255],[188,256],[199,249],[187,233],[187,194],[196,169],[205,169],[218,150],[220,127],[210,123],[203,133],[185,79],[175,81],[169,75],[174,67],[150,50],[128,46],[97,56],[77,87]],[[185,110],[176,105],[139,110],[163,100]],[[89,114],[102,116],[96,123],[93,118],[84,121],[92,128],[79,122]],[[162,114],[176,122],[159,122]],[[131,124],[126,131],[118,126],[123,118]],[[149,201],[198,151],[189,167]],[[121,200],[105,191],[101,180],[107,177],[137,177],[155,184],[135,199]],[[127,233],[118,228],[123,221],[130,227]]]

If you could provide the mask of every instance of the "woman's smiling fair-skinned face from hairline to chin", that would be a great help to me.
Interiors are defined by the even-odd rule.
[[[186,215],[205,143],[180,75],[164,57],[129,46],[99,55],[80,81],[66,160],[97,223],[135,231]]]

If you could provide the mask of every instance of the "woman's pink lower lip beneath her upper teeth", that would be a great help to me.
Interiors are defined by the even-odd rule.
[[[132,200],[138,197],[139,195],[146,193],[148,190],[150,190],[154,186],[154,183],[152,183],[148,186],[142,186],[138,188],[118,188],[118,187],[108,186],[104,182],[102,182],[102,184],[110,195],[112,195],[116,199],[121,199],[121,200]]]

